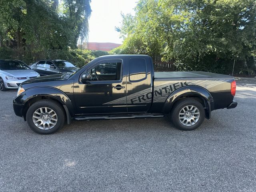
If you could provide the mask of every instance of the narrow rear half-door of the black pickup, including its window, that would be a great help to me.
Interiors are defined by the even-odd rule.
[[[128,63],[128,112],[147,112],[152,103],[152,63],[150,57],[130,58]]]

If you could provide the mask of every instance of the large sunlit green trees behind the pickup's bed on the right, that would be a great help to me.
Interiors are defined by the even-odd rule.
[[[162,55],[180,70],[232,72],[256,50],[255,0],[139,0],[112,54]],[[231,68],[230,68],[231,66]]]

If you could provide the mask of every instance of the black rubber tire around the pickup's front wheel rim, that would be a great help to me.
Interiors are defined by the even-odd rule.
[[[36,126],[36,124],[34,124],[33,114],[39,108],[50,108],[50,109],[54,110],[54,112],[56,113],[57,122],[52,128],[44,130],[44,129],[41,129],[38,126]],[[38,116],[40,116],[40,115],[38,115]],[[65,117],[66,116],[65,116],[65,111],[64,111],[63,106],[61,106],[58,102],[56,102],[54,100],[48,100],[48,99],[43,99],[43,100],[40,100],[40,101],[32,104],[32,106],[30,106],[30,108],[28,108],[28,111],[26,114],[26,120],[28,122],[28,125],[34,132],[37,132],[39,134],[52,134],[52,133],[56,132],[57,130],[59,130],[60,128],[63,127],[63,125],[65,123]]]

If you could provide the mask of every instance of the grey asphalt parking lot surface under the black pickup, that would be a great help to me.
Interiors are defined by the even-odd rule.
[[[237,84],[237,108],[190,132],[166,117],[40,135],[14,115],[16,90],[0,92],[0,191],[256,191],[256,80]]]

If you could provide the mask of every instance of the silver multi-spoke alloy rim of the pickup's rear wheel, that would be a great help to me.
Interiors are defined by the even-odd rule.
[[[200,112],[198,108],[193,105],[185,106],[180,110],[179,119],[180,122],[185,126],[192,126],[198,122]]]

